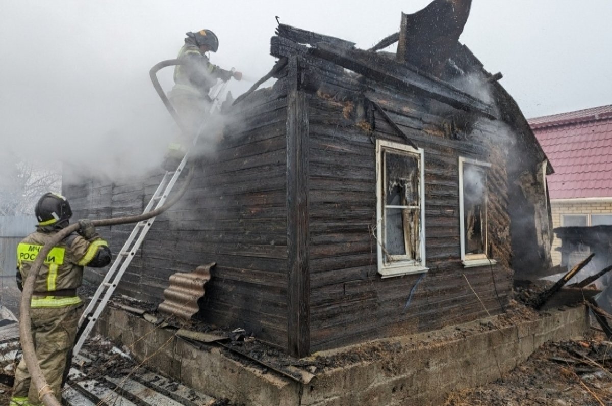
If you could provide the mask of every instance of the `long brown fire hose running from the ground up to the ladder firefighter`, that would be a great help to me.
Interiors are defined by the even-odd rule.
[[[170,103],[170,100],[168,100],[168,97],[166,97],[165,92],[163,92],[163,89],[160,86],[156,75],[157,71],[159,71],[163,67],[179,64],[182,64],[182,61],[179,61],[178,59],[171,59],[170,61],[159,62],[159,64],[156,64],[154,67],[151,68],[149,75],[151,76],[151,81],[153,82],[153,86],[155,87],[157,94],[162,99],[163,104],[166,106],[166,108],[176,121],[176,124],[179,126],[179,128],[184,134],[188,134],[188,131],[182,124],[181,119],[176,112],[176,109],[174,109],[174,107]],[[185,181],[181,186],[181,190],[179,190],[175,196],[173,196],[161,207],[152,210],[151,212],[143,213],[140,215],[107,218],[103,220],[92,220],[92,224],[96,227],[116,226],[118,224],[136,223],[138,221],[144,221],[148,220],[149,218],[159,216],[161,213],[165,212],[166,210],[170,209],[170,207],[172,207],[174,204],[176,204],[176,202],[181,199],[183,194],[185,194],[189,183],[193,179],[193,168],[194,166],[192,164],[187,174],[187,177],[185,178]],[[50,253],[51,249],[55,245],[61,242],[70,233],[77,231],[79,228],[80,226],[78,223],[70,224],[61,231],[58,231],[57,234],[51,237],[47,244],[43,245],[42,248],[40,248],[36,259],[32,263],[32,267],[28,274],[28,277],[23,282],[23,292],[21,293],[21,301],[19,306],[21,315],[19,323],[19,335],[21,349],[23,350],[23,360],[26,363],[26,367],[28,367],[31,382],[37,389],[40,400],[43,402],[43,404],[47,406],[61,406],[61,404],[58,402],[58,400],[53,394],[53,391],[51,391],[50,386],[47,384],[42,369],[40,368],[40,363],[36,358],[36,350],[34,348],[34,341],[32,340],[30,301],[32,298],[32,293],[34,293],[34,284],[40,273],[40,269],[42,268],[44,259],[47,258],[47,255]]]

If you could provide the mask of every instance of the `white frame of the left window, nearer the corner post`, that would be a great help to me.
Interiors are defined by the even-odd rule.
[[[385,254],[383,253],[383,244],[385,237],[384,231],[384,218],[385,218],[385,207],[383,202],[383,181],[384,181],[384,167],[383,167],[383,151],[389,150],[390,152],[397,153],[410,153],[417,155],[419,158],[419,199],[420,199],[420,219],[419,219],[419,260],[397,260],[397,262],[387,263]],[[424,169],[424,153],[422,148],[412,148],[398,142],[384,141],[381,139],[376,140],[376,254],[378,257],[378,273],[381,277],[390,278],[393,276],[404,276],[411,275],[414,273],[427,272],[429,269],[425,267],[425,169]]]

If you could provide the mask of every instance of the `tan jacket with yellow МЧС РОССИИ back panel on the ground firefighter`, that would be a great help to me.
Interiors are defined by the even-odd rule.
[[[17,265],[25,280],[40,249],[59,230],[37,231],[17,247]],[[80,304],[75,290],[83,283],[83,267],[102,268],[110,263],[111,252],[102,238],[88,241],[73,232],[54,246],[47,255],[34,285],[32,308],[58,308]]]

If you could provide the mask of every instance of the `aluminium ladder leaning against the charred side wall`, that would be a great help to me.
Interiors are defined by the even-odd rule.
[[[232,68],[233,70],[233,68]],[[216,84],[209,92],[209,97],[211,97],[212,105],[209,109],[209,114],[206,116],[210,117],[211,114],[218,109],[220,105],[219,97],[222,92],[225,90],[227,86],[227,82],[222,82]],[[198,132],[196,133],[195,138],[193,139],[193,145],[198,142],[200,138],[201,130],[207,121],[206,118],[200,125]],[[189,155],[189,150],[185,153],[181,163],[179,164],[176,171],[167,171],[162,178],[159,186],[153,193],[149,204],[147,204],[146,208],[143,211],[143,214],[151,212],[151,210],[158,209],[161,207],[166,199],[168,199],[168,195],[176,184],[179,175],[185,168],[185,164],[187,164],[187,157]],[[91,333],[92,328],[94,328],[95,322],[102,314],[102,311],[106,307],[108,300],[110,300],[111,296],[114,293],[114,290],[121,281],[125,270],[130,266],[132,259],[136,256],[136,251],[140,248],[140,245],[143,243],[144,237],[146,237],[147,232],[151,229],[153,222],[155,221],[155,217],[149,218],[148,220],[138,221],[134,226],[132,233],[127,238],[123,248],[119,252],[118,256],[115,258],[113,265],[111,265],[110,269],[104,276],[100,287],[95,292],[94,296],[89,301],[87,308],[83,311],[81,318],[78,321],[79,334],[77,334],[77,341],[73,348],[73,356],[77,355],[78,352],[83,347],[83,343],[88,338],[89,333]],[[102,297],[102,299],[100,299]]]

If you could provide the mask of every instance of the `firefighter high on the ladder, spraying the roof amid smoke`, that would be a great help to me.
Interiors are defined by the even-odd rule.
[[[217,83],[217,79],[224,82],[231,78],[242,79],[241,72],[225,70],[209,62],[206,53],[217,52],[219,48],[219,40],[214,32],[202,29],[198,32],[189,31],[185,35],[185,44],[177,56],[184,63],[174,67],[174,87],[169,98],[190,134],[182,134],[177,142],[172,142],[168,147],[162,165],[168,171],[176,169],[191,146],[196,131],[206,119],[212,102],[208,92]]]

